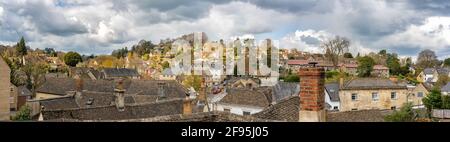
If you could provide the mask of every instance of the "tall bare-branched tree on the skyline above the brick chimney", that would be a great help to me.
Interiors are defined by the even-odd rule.
[[[346,38],[336,36],[334,39],[322,43],[321,47],[325,50],[325,57],[327,57],[334,67],[339,64],[339,57],[347,52],[350,46],[350,41]]]

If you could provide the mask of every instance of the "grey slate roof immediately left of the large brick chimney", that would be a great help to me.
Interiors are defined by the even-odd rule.
[[[292,82],[278,82],[272,87],[272,103],[277,103],[290,96],[297,96],[300,92],[300,84]]]

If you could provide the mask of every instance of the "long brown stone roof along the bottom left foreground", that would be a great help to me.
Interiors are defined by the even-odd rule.
[[[182,114],[183,100],[174,99],[147,104],[125,105],[123,111],[115,105],[91,108],[44,110],[44,120],[127,120]]]

